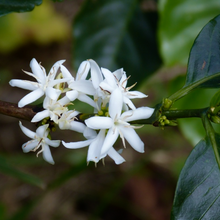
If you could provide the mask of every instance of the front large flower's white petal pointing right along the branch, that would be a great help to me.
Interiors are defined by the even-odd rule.
[[[135,121],[150,118],[154,112],[154,108],[140,107],[135,110],[129,110],[121,115],[125,121]]]

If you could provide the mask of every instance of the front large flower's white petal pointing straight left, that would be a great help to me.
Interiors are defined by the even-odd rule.
[[[109,117],[94,116],[85,120],[86,125],[92,129],[108,129],[113,126],[113,120]]]

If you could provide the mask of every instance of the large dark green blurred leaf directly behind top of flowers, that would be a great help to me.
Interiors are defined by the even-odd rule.
[[[136,0],[87,0],[73,24],[74,67],[85,59],[114,71],[124,68],[129,84],[161,63],[156,43],[156,13],[144,14]]]

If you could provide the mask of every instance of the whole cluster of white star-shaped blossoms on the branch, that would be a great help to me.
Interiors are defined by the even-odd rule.
[[[30,90],[19,102],[19,107],[24,107],[43,97],[43,110],[38,112],[31,122],[38,122],[36,133],[27,129],[20,122],[20,128],[31,138],[31,141],[23,144],[24,152],[36,151],[40,147],[43,158],[54,164],[49,146],[58,147],[60,140],[50,140],[51,122],[60,129],[80,132],[85,140],[62,144],[69,149],[77,149],[89,146],[87,162],[97,163],[107,155],[116,164],[124,162],[121,151],[114,149],[118,137],[125,140],[138,152],[144,152],[144,143],[141,141],[132,121],[149,118],[154,109],[149,107],[136,108],[132,102],[135,98],[147,97],[141,92],[130,91],[133,86],[127,87],[127,77],[123,69],[110,72],[100,68],[94,60],[83,61],[73,77],[63,65],[64,60],[56,62],[50,72],[46,71],[36,59],[32,59],[30,67],[32,73],[24,71],[33,77],[36,82],[20,79],[12,79],[11,86]],[[83,122],[78,120],[79,112],[71,110],[70,105],[78,99],[94,108]],[[40,123],[41,122],[41,123]]]

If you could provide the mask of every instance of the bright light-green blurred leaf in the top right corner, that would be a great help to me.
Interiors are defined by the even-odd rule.
[[[220,12],[218,0],[160,0],[159,42],[166,65],[186,65],[202,27]]]

